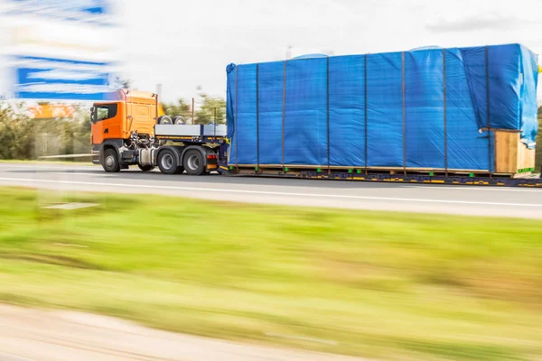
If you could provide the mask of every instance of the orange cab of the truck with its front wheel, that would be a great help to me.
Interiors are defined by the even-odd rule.
[[[120,89],[117,99],[95,103],[91,108],[92,162],[102,164],[106,171],[126,169],[126,162],[120,159],[121,150],[151,142],[154,125],[164,116],[153,93]]]

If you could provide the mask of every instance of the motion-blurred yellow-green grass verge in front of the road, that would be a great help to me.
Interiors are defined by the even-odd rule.
[[[536,220],[0,189],[0,301],[215,338],[539,360],[541,260]]]

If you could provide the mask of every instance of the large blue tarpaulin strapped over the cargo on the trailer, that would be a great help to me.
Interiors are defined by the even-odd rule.
[[[494,132],[537,136],[522,45],[229,65],[229,164],[494,171]]]

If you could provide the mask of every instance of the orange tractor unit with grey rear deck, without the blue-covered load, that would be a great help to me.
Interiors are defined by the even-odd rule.
[[[92,162],[107,172],[156,166],[165,174],[218,171],[227,153],[225,125],[186,125],[164,115],[154,93],[122,89],[118,100],[94,103],[90,111]]]

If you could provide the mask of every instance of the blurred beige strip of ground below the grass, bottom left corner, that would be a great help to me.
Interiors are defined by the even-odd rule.
[[[76,360],[363,361],[164,332],[87,313],[0,305],[0,361]]]

